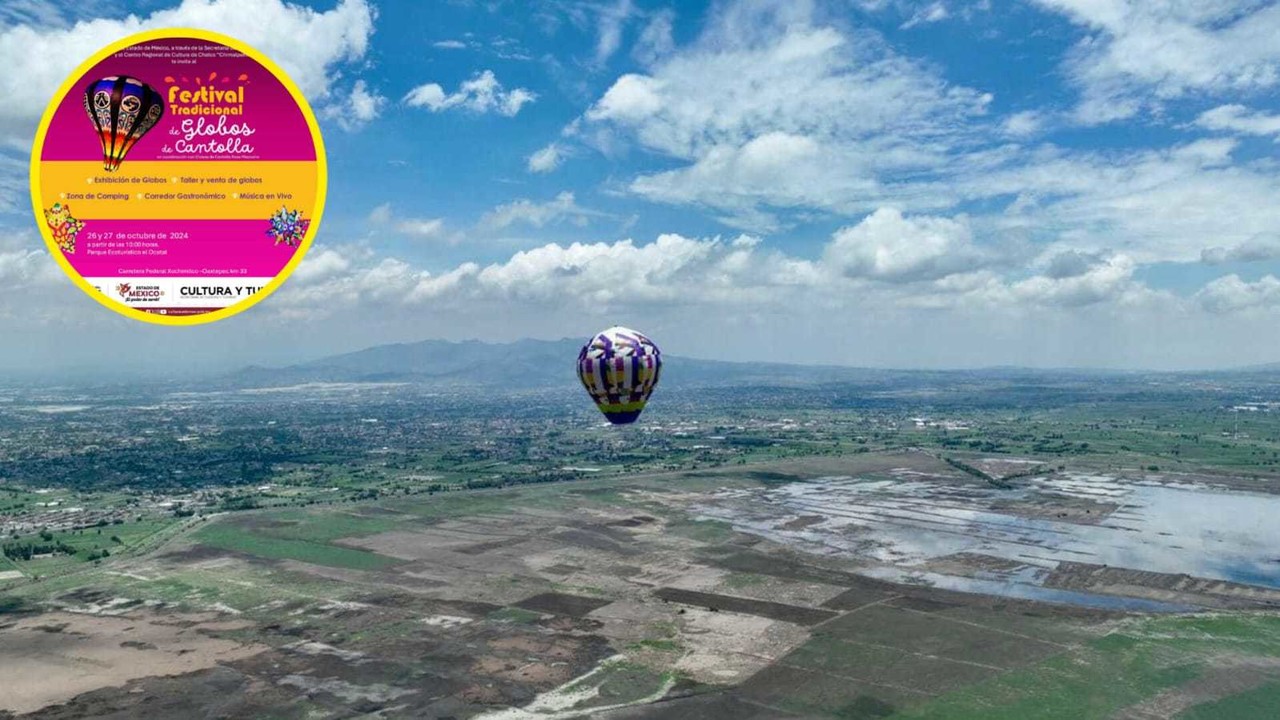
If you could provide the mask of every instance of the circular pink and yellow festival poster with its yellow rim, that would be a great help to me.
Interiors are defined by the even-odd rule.
[[[100,50],[54,96],[31,154],[36,223],[63,270],[164,324],[275,291],[311,245],[325,179],[320,128],[288,76],[197,29]]]

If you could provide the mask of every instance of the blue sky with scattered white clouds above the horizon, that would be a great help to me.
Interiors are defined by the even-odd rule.
[[[61,77],[174,24],[275,58],[330,159],[296,278],[207,328],[81,297],[26,196]],[[0,368],[614,322],[707,357],[1280,360],[1277,36],[1258,0],[0,1]]]

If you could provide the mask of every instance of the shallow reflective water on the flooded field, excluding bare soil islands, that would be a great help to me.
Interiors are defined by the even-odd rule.
[[[868,561],[869,575],[969,592],[1097,605],[1070,597],[1088,593],[1061,594],[1066,591],[1041,587],[1061,561],[1280,589],[1280,496],[1094,474],[1055,474],[1012,491],[956,484],[910,470],[893,474],[895,479],[819,478],[723,491],[699,510],[740,532],[808,552]],[[1009,503],[1051,507],[1078,498],[1119,507],[1097,524],[996,509]],[[808,520],[794,523],[801,516]],[[1004,559],[1016,568],[960,578],[927,566],[957,552]]]

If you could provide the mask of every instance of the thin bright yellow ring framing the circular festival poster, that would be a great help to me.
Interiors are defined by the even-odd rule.
[[[252,296],[236,302],[234,305],[228,305],[220,310],[214,310],[212,313],[202,313],[200,315],[160,315],[157,313],[147,313],[138,310],[136,307],[129,307],[123,302],[116,302],[109,299],[105,293],[93,290],[93,286],[81,275],[76,268],[72,266],[70,261],[63,255],[61,249],[58,246],[56,238],[54,238],[52,229],[49,223],[45,222],[45,209],[41,200],[40,192],[40,173],[41,173],[41,155],[45,147],[45,135],[49,132],[49,126],[54,119],[54,114],[58,111],[59,105],[61,105],[63,99],[67,97],[69,92],[76,90],[77,83],[81,77],[87,73],[93,65],[101,63],[106,58],[119,53],[120,50],[140,45],[142,42],[151,42],[155,40],[205,40],[209,42],[218,42],[238,50],[247,55],[248,58],[256,60],[260,65],[266,68],[275,79],[284,86],[284,90],[289,92],[293,101],[298,105],[302,111],[302,117],[307,120],[307,128],[311,132],[311,142],[316,150],[316,201],[315,208],[311,211],[311,222],[307,225],[307,232],[302,237],[302,242],[298,243],[298,249],[293,252],[293,258],[282,269],[271,282],[266,283],[259,292]],[[320,229],[320,219],[324,215],[325,195],[329,187],[329,163],[325,156],[324,138],[320,136],[320,124],[316,122],[315,113],[311,111],[311,105],[307,102],[306,97],[302,96],[302,91],[294,85],[293,78],[291,78],[279,65],[276,65],[270,58],[256,50],[255,47],[220,32],[212,32],[207,29],[197,28],[160,28],[150,29],[145,32],[137,32],[111,42],[106,47],[102,47],[87,60],[81,63],[70,76],[61,83],[58,92],[50,100],[49,106],[45,109],[44,117],[40,119],[40,127],[36,129],[36,141],[32,143],[31,149],[31,206],[36,214],[36,225],[40,228],[41,237],[45,238],[45,245],[49,247],[49,254],[52,255],[54,260],[63,269],[63,273],[72,279],[76,286],[78,286],[86,295],[96,300],[100,305],[124,315],[125,318],[132,318],[134,320],[142,320],[145,323],[152,323],[157,325],[202,325],[205,323],[212,323],[216,320],[223,320],[248,310],[250,307],[257,305],[262,300],[266,300],[273,292],[275,292],[284,281],[289,279],[293,270],[306,256],[307,250],[311,249],[311,241],[315,238],[316,231]]]

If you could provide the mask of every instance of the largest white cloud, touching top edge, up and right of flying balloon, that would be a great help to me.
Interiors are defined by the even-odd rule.
[[[630,190],[767,232],[785,225],[771,208],[946,206],[947,193],[886,178],[946,167],[989,101],[873,33],[823,24],[810,4],[759,1],[721,6],[696,41],[617,78],[570,135],[681,161]]]

